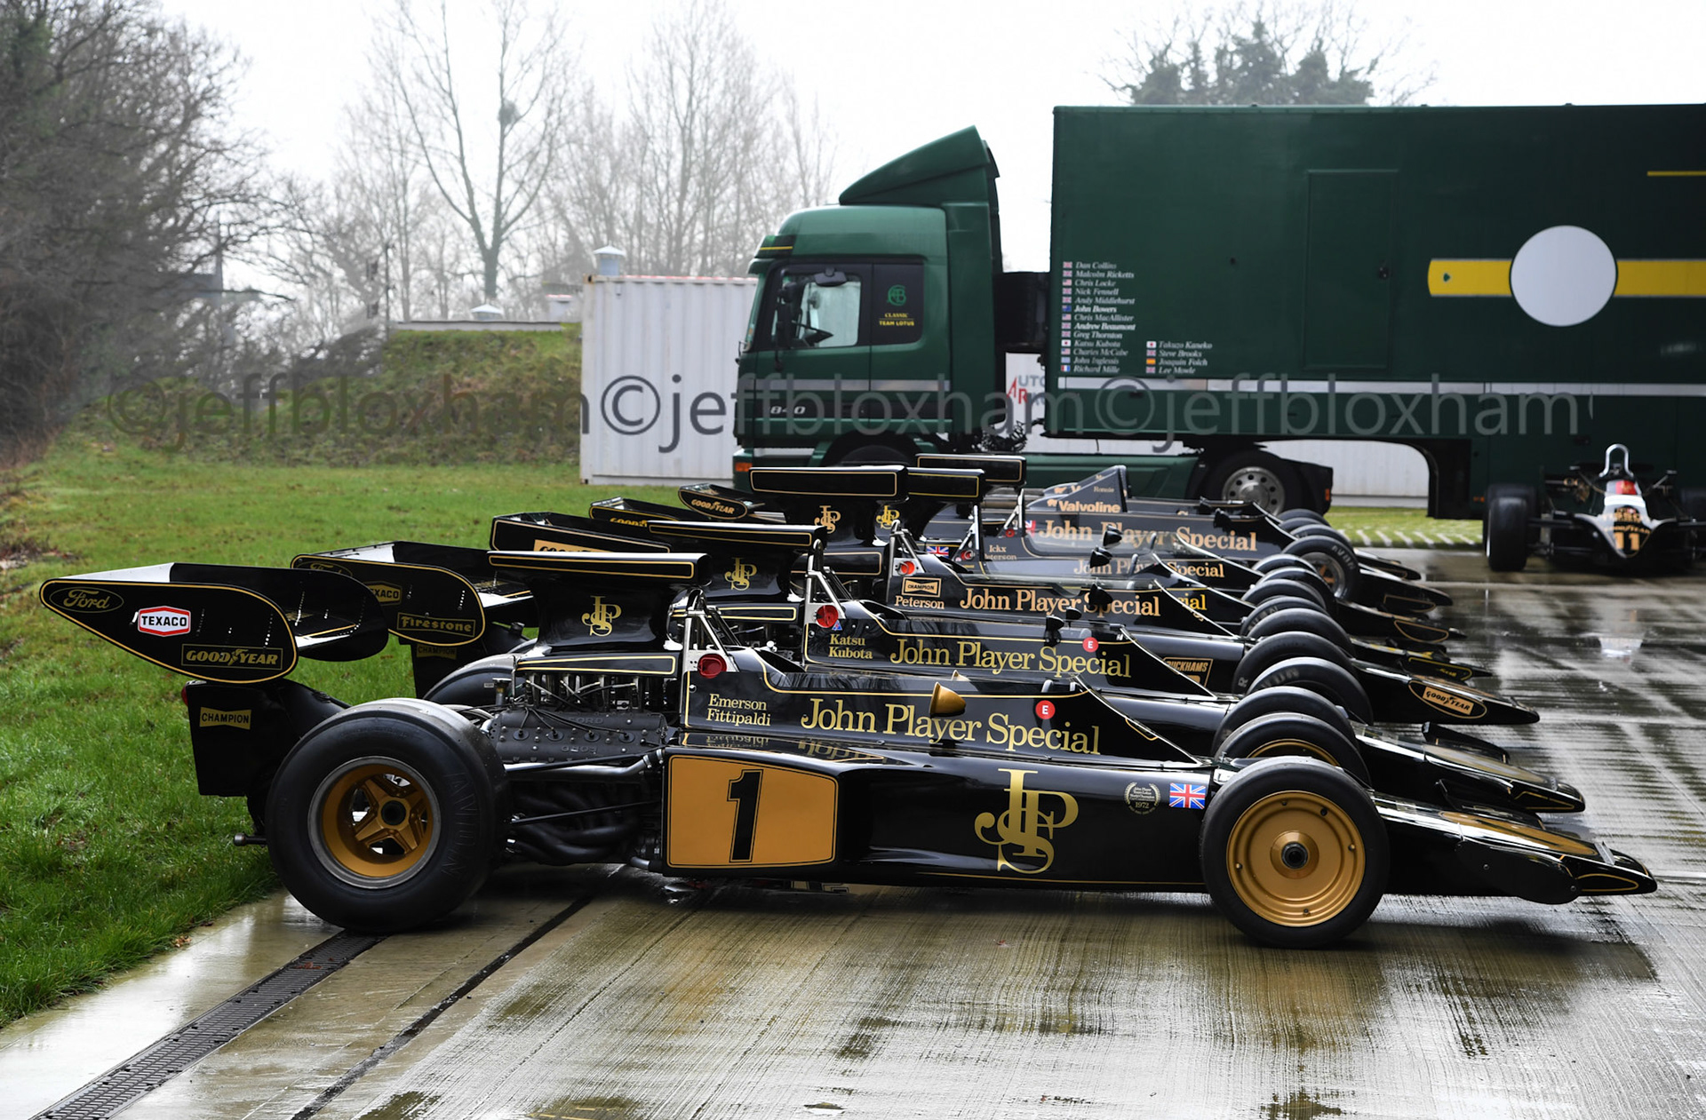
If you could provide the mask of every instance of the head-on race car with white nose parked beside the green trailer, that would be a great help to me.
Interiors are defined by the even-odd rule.
[[[1706,489],[1679,488],[1612,443],[1604,464],[1575,464],[1542,489],[1488,486],[1488,568],[1522,571],[1529,556],[1622,571],[1679,569],[1706,551]]]

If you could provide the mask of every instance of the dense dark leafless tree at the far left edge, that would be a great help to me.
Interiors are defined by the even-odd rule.
[[[186,372],[271,220],[234,55],[142,0],[0,0],[0,459],[106,375]],[[212,334],[208,334],[212,331]]]

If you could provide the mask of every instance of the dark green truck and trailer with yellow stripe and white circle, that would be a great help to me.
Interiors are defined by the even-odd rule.
[[[1636,447],[1706,476],[1706,107],[1056,109],[1051,268],[1001,268],[962,130],[790,215],[752,263],[737,438],[759,464],[1051,436],[1148,496],[1326,508],[1269,440],[1418,448],[1435,517]],[[1044,399],[1007,395],[1037,355]]]

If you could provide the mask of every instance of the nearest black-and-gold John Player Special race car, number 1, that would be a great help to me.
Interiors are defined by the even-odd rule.
[[[338,571],[162,564],[49,580],[41,598],[196,678],[201,791],[246,796],[292,893],[358,929],[454,910],[505,854],[694,878],[1206,890],[1283,946],[1346,936],[1384,892],[1657,888],[1532,813],[1372,793],[1319,757],[1204,757],[1076,682],[812,672],[735,643],[705,605],[705,554],[486,566],[491,586],[469,581],[476,600],[454,609],[525,602],[539,643],[478,707],[346,707],[288,680],[299,655],[372,655],[404,615],[481,639],[433,626],[457,615],[408,586],[387,614]],[[498,593],[514,585],[525,598]]]

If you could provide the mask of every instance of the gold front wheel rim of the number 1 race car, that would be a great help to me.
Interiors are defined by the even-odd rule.
[[[1288,789],[1232,823],[1227,875],[1262,921],[1319,926],[1341,914],[1368,873],[1363,837],[1331,798]]]

